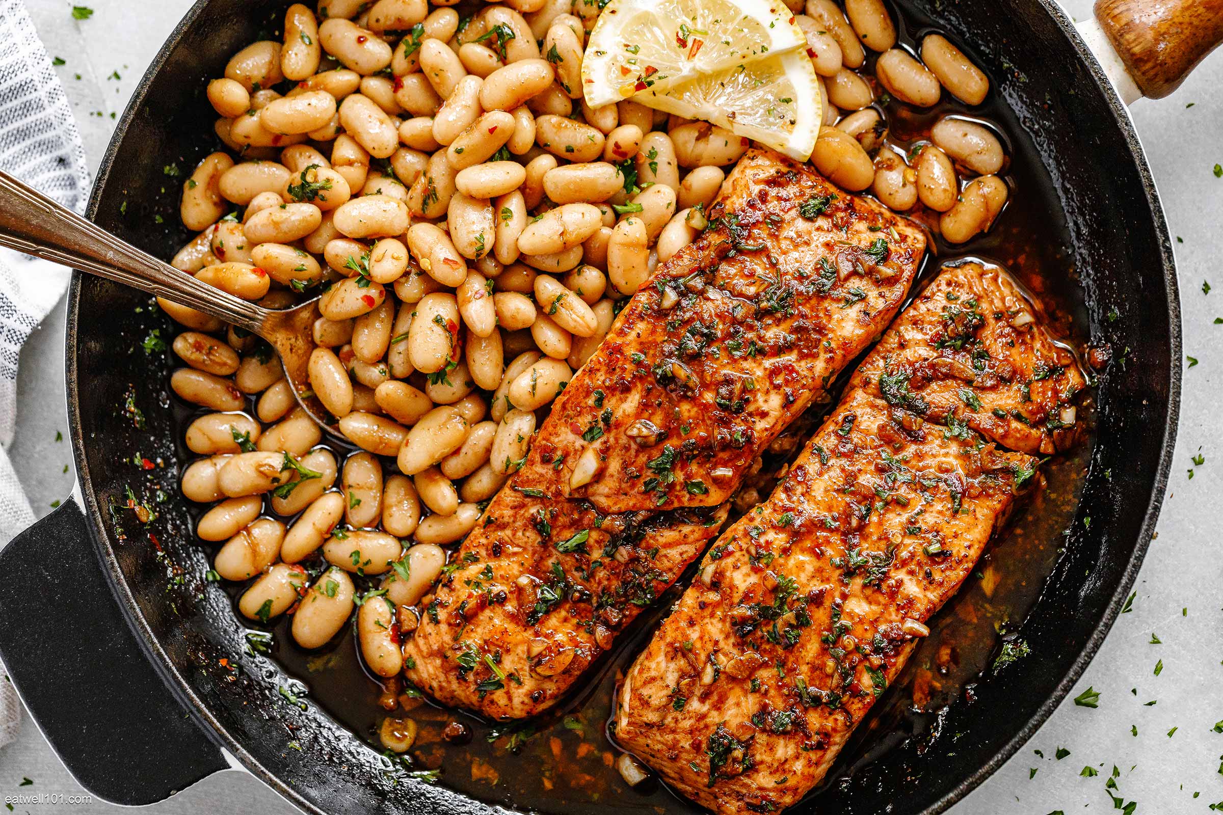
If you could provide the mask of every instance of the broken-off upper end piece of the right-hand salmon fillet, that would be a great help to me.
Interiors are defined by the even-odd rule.
[[[1046,331],[1040,304],[1000,269],[965,263],[914,299],[850,387],[1036,455],[1077,441],[1074,398],[1085,385],[1074,354]]]

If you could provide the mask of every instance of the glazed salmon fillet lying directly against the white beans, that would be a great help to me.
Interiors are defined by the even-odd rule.
[[[918,228],[750,150],[624,307],[451,557],[406,676],[497,718],[556,701],[696,560],[752,461],[895,316]]]

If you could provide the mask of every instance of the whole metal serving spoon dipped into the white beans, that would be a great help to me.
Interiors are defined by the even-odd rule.
[[[289,309],[249,303],[119,239],[2,170],[0,246],[190,305],[263,337],[280,354],[297,403],[319,426],[351,444],[309,390],[317,297]]]

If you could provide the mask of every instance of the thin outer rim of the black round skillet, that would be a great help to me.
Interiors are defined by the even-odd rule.
[[[210,0],[197,0],[196,4],[183,15],[182,20],[179,21],[166,38],[165,43],[158,50],[157,55],[149,62],[148,68],[132,93],[127,108],[119,117],[119,122],[115,126],[111,139],[106,145],[106,152],[103,154],[102,161],[99,163],[93,189],[91,191],[86,211],[87,217],[91,220],[94,220],[97,215],[102,197],[100,191],[109,180],[115,156],[119,152],[119,145],[122,143],[127,134],[128,126],[132,123],[138,110],[143,105],[144,97],[153,82],[153,77],[159,75],[165,67],[165,62],[170,54],[180,45],[180,42],[187,29],[196,22],[197,17],[199,17],[209,2]],[[1175,452],[1183,375],[1180,368],[1183,349],[1180,292],[1177,280],[1177,266],[1172,247],[1172,237],[1168,231],[1163,205],[1159,200],[1159,193],[1156,187],[1155,178],[1152,177],[1146,153],[1134,127],[1134,121],[1130,117],[1128,109],[1118,97],[1112,82],[1104,75],[1099,62],[1082,40],[1076,26],[1057,5],[1055,0],[1036,0],[1036,5],[1044,11],[1044,13],[1049,15],[1058,29],[1066,38],[1070,48],[1077,55],[1080,62],[1095,78],[1096,84],[1103,94],[1104,101],[1112,112],[1115,126],[1120,131],[1125,147],[1129,149],[1130,158],[1134,161],[1142,191],[1146,196],[1147,208],[1151,213],[1151,224],[1155,227],[1159,254],[1162,258],[1164,292],[1168,299],[1168,330],[1170,335],[1168,340],[1172,358],[1169,360],[1169,389],[1167,412],[1164,415],[1163,442],[1159,461],[1156,467],[1155,479],[1151,484],[1151,497],[1144,513],[1142,524],[1139,529],[1139,539],[1134,544],[1125,571],[1118,582],[1112,600],[1104,610],[1103,617],[1096,624],[1091,637],[1080,650],[1074,663],[1044,703],[1029,718],[1024,727],[1021,727],[1019,732],[1016,732],[1015,736],[1007,742],[1007,744],[997,750],[977,770],[958,783],[950,792],[945,793],[942,798],[921,810],[918,815],[938,815],[976,789],[986,778],[993,775],[1016,751],[1019,751],[1019,749],[1026,744],[1032,736],[1035,736],[1036,731],[1046,721],[1048,721],[1053,711],[1062,704],[1070,689],[1082,677],[1087,666],[1095,659],[1101,645],[1103,644],[1104,638],[1115,623],[1124,600],[1128,596],[1128,591],[1134,585],[1137,573],[1142,567],[1146,552],[1151,545],[1155,527],[1159,519],[1159,511],[1167,495],[1168,478],[1172,470],[1172,458]],[[111,546],[104,545],[105,536],[98,534],[99,529],[105,528],[105,521],[103,519],[102,507],[98,503],[97,495],[92,486],[89,467],[83,452],[83,445],[81,441],[83,439],[82,419],[77,401],[79,385],[77,368],[77,326],[81,308],[82,277],[82,272],[73,270],[67,294],[65,386],[68,413],[68,433],[72,441],[72,455],[77,472],[77,489],[79,490],[82,506],[84,507],[86,514],[89,519],[91,536],[93,538],[94,545],[99,550],[100,560],[108,572],[111,589],[116,598],[121,601],[120,607],[127,617],[133,632],[136,632],[138,638],[143,641],[148,652],[155,657],[152,660],[153,666],[163,676],[163,678],[166,679],[166,685],[170,692],[188,703],[187,706],[191,709],[192,714],[201,721],[202,725],[208,726],[208,729],[210,729],[212,734],[214,734],[214,737],[221,743],[221,747],[226,750],[226,753],[234,759],[237,759],[237,761],[240,761],[247,771],[263,781],[298,809],[317,815],[325,815],[323,809],[306,799],[295,788],[285,783],[278,775],[264,767],[232,734],[229,733],[229,731],[210,712],[198,694],[192,690],[190,683],[161,648],[152,626],[141,612],[132,589],[120,568],[119,560],[116,558],[114,550]],[[466,798],[462,793],[455,792],[455,794]],[[504,810],[504,808],[500,806],[498,806],[498,809]]]

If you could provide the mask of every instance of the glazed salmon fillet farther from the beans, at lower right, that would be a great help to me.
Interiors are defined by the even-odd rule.
[[[963,308],[956,297],[975,293],[969,307],[993,314],[1002,308],[996,298],[1010,297],[1008,285],[978,265],[933,281],[772,496],[715,541],[626,673],[615,739],[678,792],[718,813],[777,811],[801,799],[1004,523],[1037,459],[999,450],[960,419],[954,390],[954,411],[915,413],[914,397],[936,404],[945,380],[932,376],[928,396],[890,385],[881,393],[876,371],[893,370],[881,364],[889,354],[888,365],[939,358],[911,353],[896,362],[931,338],[963,336],[971,354],[967,337],[982,335],[945,332],[948,294]],[[1033,324],[1014,330],[1043,332]],[[1043,340],[1013,338],[1047,352]],[[999,342],[988,359],[980,356],[985,370],[997,370],[1008,358],[1003,348],[1014,347]],[[1009,398],[992,403],[1010,406]],[[1031,445],[1027,436],[1022,442]]]

